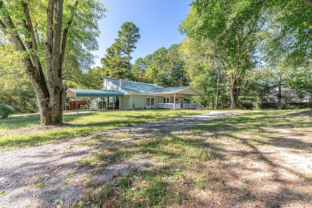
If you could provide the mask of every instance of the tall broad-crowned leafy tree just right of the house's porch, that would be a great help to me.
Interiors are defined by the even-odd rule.
[[[236,108],[245,76],[254,68],[266,16],[263,0],[195,0],[180,31],[196,41],[206,41],[226,77]]]

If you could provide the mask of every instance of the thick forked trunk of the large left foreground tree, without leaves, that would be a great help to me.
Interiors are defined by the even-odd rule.
[[[0,30],[9,37],[10,42],[17,52],[20,52],[20,60],[23,63],[25,72],[35,90],[40,112],[40,123],[42,125],[53,125],[62,123],[62,113],[66,99],[66,92],[62,84],[62,63],[64,59],[66,41],[69,29],[62,32],[63,0],[48,0],[47,9],[47,31],[45,48],[45,73],[43,74],[38,52],[36,34],[29,13],[26,0],[20,1],[24,13],[23,27],[27,31],[23,35],[17,33],[16,26],[8,15],[0,16]],[[76,1],[75,6],[78,5]],[[5,6],[0,0],[0,9],[5,11]],[[5,13],[3,13],[5,14]],[[72,19],[67,22],[71,25]]]

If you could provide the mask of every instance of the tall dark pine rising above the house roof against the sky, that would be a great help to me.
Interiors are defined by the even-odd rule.
[[[107,48],[105,57],[101,59],[103,71],[109,77],[133,79],[130,54],[137,48],[136,43],[139,38],[139,29],[133,22],[127,21],[121,25],[118,38],[111,47]]]

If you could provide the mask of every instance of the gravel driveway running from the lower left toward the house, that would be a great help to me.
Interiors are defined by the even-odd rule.
[[[183,131],[203,121],[230,116],[236,113],[211,112],[202,115],[178,117],[137,125],[95,135],[59,141],[48,145],[2,152],[0,155],[0,208],[51,208],[69,207],[78,202],[79,195],[87,190],[87,181],[114,183],[116,172],[127,174],[153,163],[145,158],[111,163],[100,172],[94,167],[81,167],[79,161],[96,154],[97,149],[122,145],[159,134]],[[127,133],[115,142],[81,145],[96,136],[114,136]]]

